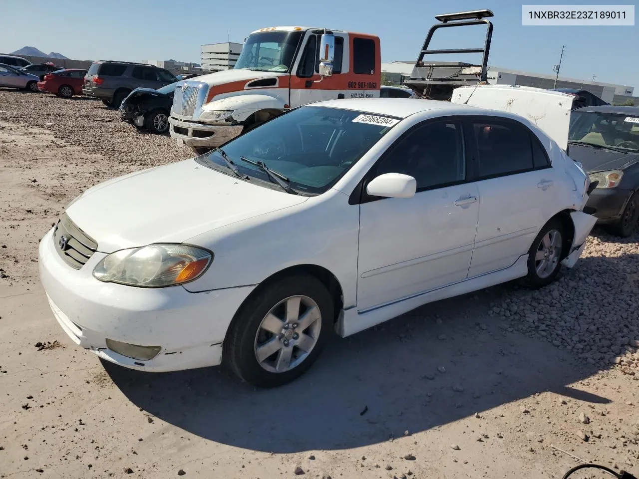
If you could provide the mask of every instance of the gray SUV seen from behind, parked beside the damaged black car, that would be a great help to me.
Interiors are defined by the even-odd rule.
[[[84,77],[82,93],[118,108],[135,88],[158,89],[178,81],[173,73],[146,63],[94,61]]]

